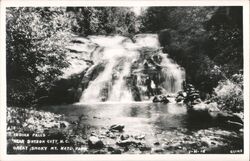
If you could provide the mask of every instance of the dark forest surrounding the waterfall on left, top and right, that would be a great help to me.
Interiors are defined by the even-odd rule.
[[[157,33],[202,99],[242,110],[242,17],[242,7],[149,7],[139,16],[128,7],[7,8],[7,104],[30,107],[46,95],[69,66],[64,46],[72,34]]]

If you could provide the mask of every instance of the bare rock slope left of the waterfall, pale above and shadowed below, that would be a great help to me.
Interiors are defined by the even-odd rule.
[[[87,70],[93,66],[91,53],[98,45],[87,38],[73,37],[66,48],[69,67],[62,70],[63,75],[53,83],[46,96],[42,94],[35,102],[38,105],[71,104],[78,102],[82,95],[84,83],[81,82]]]

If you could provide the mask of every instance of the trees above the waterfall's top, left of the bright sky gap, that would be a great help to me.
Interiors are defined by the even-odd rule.
[[[136,16],[129,7],[69,7],[77,25],[74,32],[81,35],[120,34],[136,32]]]

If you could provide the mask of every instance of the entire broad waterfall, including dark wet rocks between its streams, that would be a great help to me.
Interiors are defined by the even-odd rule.
[[[148,80],[154,94],[176,93],[182,89],[185,72],[161,52],[156,34],[136,35],[134,42],[122,36],[91,36],[89,39],[99,46],[92,53],[95,65],[105,65],[88,83],[81,102],[145,100]]]

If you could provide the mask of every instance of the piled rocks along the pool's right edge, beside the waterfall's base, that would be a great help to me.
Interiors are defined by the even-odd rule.
[[[228,124],[232,126],[232,128],[243,131],[243,112],[223,110],[220,105],[212,99],[202,101],[199,91],[196,90],[192,84],[187,84],[184,91],[178,92],[175,100],[176,102],[185,103],[192,117],[214,119],[218,122]]]

